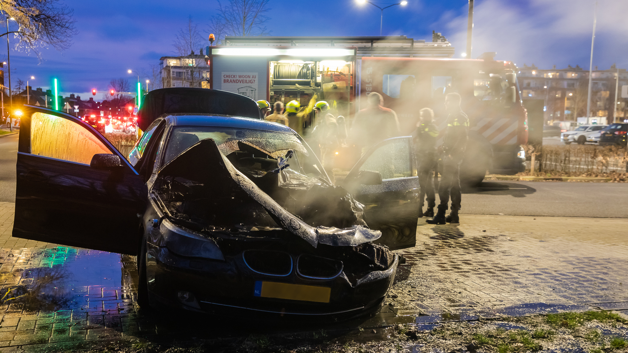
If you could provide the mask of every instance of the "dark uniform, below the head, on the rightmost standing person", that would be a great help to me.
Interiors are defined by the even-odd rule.
[[[452,214],[458,215],[460,210],[460,164],[467,148],[469,119],[467,114],[459,111],[447,117],[447,130],[443,140],[443,173],[438,184],[438,198],[443,210],[447,210],[449,198],[452,198]]]

